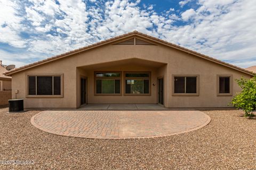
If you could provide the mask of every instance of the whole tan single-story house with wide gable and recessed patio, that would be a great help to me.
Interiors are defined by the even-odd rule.
[[[25,108],[85,104],[230,107],[253,73],[138,31],[6,72]]]

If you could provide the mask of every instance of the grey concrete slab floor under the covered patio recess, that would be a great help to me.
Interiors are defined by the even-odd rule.
[[[78,108],[83,111],[162,111],[167,109],[158,104],[87,104]]]

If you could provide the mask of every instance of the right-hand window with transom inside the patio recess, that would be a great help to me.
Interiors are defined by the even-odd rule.
[[[124,73],[125,95],[150,95],[150,72]]]

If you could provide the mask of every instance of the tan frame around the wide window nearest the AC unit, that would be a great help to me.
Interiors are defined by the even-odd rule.
[[[60,77],[60,95],[29,95],[28,94],[28,77]],[[36,81],[37,83],[37,81]],[[52,81],[53,83],[53,81]],[[52,87],[52,89],[54,86]],[[36,85],[37,89],[37,85]],[[63,98],[63,73],[53,74],[53,73],[27,73],[26,74],[26,98]]]

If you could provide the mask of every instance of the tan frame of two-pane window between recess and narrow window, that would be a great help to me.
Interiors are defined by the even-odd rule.
[[[185,77],[185,93],[174,92],[174,77]],[[186,93],[186,77],[196,77],[196,93]],[[199,74],[172,74],[172,96],[199,96]]]

